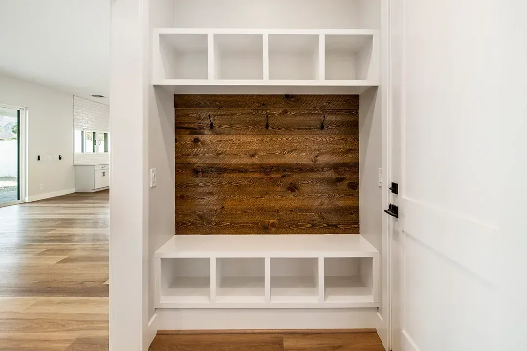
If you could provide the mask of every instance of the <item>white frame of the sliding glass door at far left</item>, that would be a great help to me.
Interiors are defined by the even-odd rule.
[[[27,108],[0,103],[0,107],[18,111],[18,201],[0,204],[0,207],[27,202]]]

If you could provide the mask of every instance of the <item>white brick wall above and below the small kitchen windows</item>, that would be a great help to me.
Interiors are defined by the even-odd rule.
[[[110,106],[73,96],[73,129],[110,131]],[[74,154],[75,164],[110,162],[110,153]]]

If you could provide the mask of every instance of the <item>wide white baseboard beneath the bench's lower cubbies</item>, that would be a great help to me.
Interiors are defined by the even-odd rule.
[[[158,330],[376,328],[375,308],[158,308]]]

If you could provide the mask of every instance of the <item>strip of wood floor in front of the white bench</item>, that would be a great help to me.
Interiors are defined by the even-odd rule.
[[[384,351],[376,333],[157,335],[150,351]]]

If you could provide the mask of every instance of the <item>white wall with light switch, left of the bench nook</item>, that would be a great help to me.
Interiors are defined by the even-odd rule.
[[[173,13],[173,0],[112,2],[112,351],[147,350],[157,333],[152,253],[174,234],[174,115],[172,93],[150,84],[149,43],[151,28],[173,23]],[[149,168],[158,169],[154,189]]]

